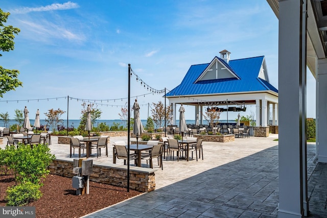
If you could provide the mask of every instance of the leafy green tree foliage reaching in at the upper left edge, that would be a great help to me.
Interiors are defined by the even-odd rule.
[[[0,9],[0,51],[9,52],[14,50],[14,34],[18,34],[20,30],[12,26],[5,26],[7,22],[9,12],[3,12]],[[0,54],[0,57],[2,54]],[[0,97],[3,98],[3,94],[10,90],[15,90],[18,86],[22,86],[18,77],[19,71],[16,69],[5,69],[0,66]]]

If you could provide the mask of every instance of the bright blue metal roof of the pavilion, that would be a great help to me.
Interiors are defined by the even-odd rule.
[[[278,90],[269,82],[259,78],[259,72],[264,61],[264,56],[230,60],[228,64],[222,59],[218,59],[240,79],[228,78],[202,81],[200,80],[196,82],[196,80],[210,63],[192,65],[180,85],[167,93],[166,96],[268,90],[278,92]]]

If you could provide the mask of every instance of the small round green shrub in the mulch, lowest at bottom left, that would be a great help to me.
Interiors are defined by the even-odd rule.
[[[32,201],[41,198],[42,193],[39,190],[39,184],[24,182],[13,187],[8,187],[6,192],[6,206],[24,206]]]

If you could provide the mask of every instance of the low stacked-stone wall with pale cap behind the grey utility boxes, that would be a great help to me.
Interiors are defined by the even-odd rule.
[[[73,178],[73,161],[56,159],[49,165],[50,174]],[[130,189],[141,192],[155,190],[156,169],[130,166]],[[127,187],[127,165],[93,165],[90,181]]]

